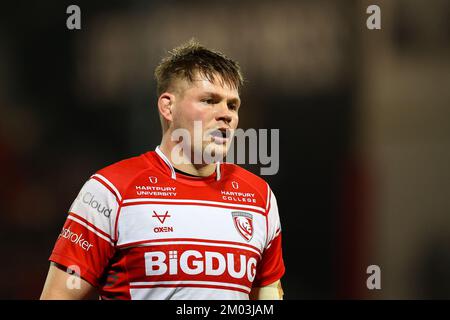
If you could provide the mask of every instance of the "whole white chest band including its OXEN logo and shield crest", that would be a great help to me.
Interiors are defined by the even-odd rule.
[[[135,199],[121,208],[117,228],[119,247],[183,239],[262,252],[267,237],[266,217],[251,206],[195,199]]]

